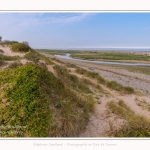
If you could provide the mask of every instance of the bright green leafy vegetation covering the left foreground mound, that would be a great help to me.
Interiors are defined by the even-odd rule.
[[[0,73],[0,125],[26,127],[5,128],[1,136],[48,136],[52,116],[39,85],[39,73],[40,69],[31,64]]]

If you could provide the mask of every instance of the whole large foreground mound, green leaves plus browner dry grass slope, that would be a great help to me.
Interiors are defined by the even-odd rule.
[[[90,96],[30,63],[0,72],[0,91],[2,137],[77,136],[93,108]]]

